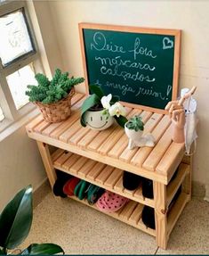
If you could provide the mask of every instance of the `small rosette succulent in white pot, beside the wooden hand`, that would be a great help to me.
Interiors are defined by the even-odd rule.
[[[144,123],[140,115],[133,116],[125,123],[125,134],[129,138],[128,148],[133,149],[134,144],[140,141],[144,130]]]

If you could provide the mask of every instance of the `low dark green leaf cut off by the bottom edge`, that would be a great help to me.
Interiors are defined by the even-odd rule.
[[[26,248],[21,255],[52,255],[64,251],[57,244],[30,244],[28,248]]]

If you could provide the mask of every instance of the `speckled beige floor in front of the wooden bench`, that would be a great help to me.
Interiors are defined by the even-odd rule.
[[[34,211],[32,243],[60,244],[66,254],[154,254],[155,237],[70,199],[48,194]]]

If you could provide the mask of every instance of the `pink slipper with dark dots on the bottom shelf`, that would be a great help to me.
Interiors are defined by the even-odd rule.
[[[96,205],[100,211],[113,212],[118,211],[128,201],[129,199],[124,196],[106,191],[101,195]]]

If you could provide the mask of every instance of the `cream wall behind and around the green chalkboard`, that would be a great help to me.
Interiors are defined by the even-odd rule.
[[[50,1],[65,70],[84,75],[78,22],[182,29],[180,87],[197,86],[197,153],[193,179],[209,184],[209,1]],[[84,87],[78,87],[84,92]]]

